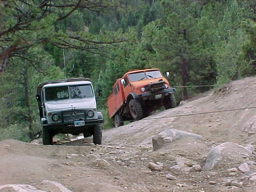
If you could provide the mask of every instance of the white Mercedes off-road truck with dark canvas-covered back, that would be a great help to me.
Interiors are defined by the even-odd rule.
[[[56,134],[93,135],[102,143],[102,113],[97,111],[92,82],[88,78],[69,78],[41,83],[36,99],[42,124],[44,145],[52,144]]]

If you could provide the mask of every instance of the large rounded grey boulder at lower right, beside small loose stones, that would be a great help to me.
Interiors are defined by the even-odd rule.
[[[217,167],[227,167],[226,162],[244,162],[243,156],[250,156],[251,152],[245,147],[232,142],[222,143],[210,150],[204,163],[204,170],[212,170]]]

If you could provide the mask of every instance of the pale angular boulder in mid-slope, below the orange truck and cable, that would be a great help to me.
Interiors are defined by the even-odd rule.
[[[166,144],[174,142],[176,140],[181,140],[186,138],[186,140],[200,140],[203,142],[203,138],[200,135],[177,130],[177,129],[168,129],[160,132],[158,135],[152,137],[153,150],[158,150],[163,148]]]

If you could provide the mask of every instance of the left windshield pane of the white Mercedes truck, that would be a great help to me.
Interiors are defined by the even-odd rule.
[[[68,86],[45,88],[45,100],[47,101],[62,100],[68,98]]]

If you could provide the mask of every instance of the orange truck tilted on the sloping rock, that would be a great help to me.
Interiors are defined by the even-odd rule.
[[[119,127],[126,120],[145,118],[162,106],[174,108],[174,92],[175,88],[170,87],[159,69],[131,70],[113,86],[107,99],[109,116],[114,119],[115,127]]]

